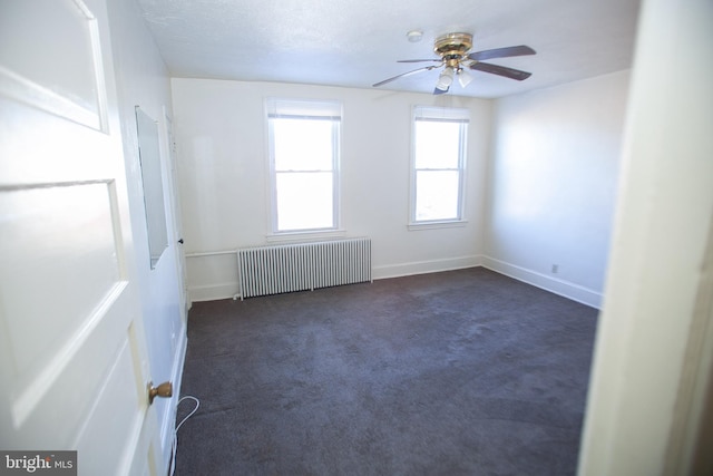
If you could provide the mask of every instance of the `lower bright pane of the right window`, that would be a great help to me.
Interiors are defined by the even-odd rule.
[[[457,220],[458,172],[418,171],[416,175],[416,220]]]

